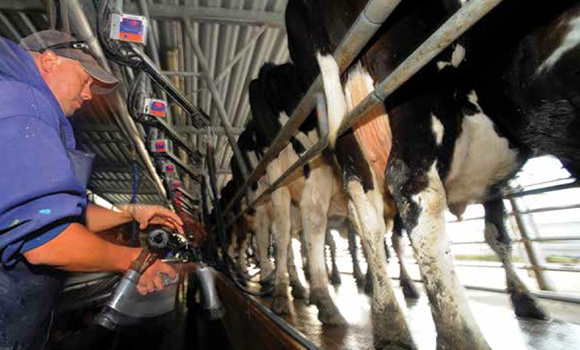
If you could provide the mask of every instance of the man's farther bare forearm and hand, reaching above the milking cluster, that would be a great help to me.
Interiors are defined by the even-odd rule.
[[[135,219],[141,229],[145,229],[149,224],[160,224],[179,232],[183,231],[183,221],[167,208],[158,205],[127,204],[119,206],[119,209],[121,212],[88,204],[85,217],[87,229],[91,232],[100,232]]]

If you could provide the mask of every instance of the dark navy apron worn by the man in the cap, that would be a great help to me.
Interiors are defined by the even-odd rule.
[[[66,140],[61,130],[66,149]],[[68,150],[75,177],[86,190],[95,155]],[[40,350],[48,340],[53,306],[66,272],[34,266],[23,256],[0,266],[0,350]]]

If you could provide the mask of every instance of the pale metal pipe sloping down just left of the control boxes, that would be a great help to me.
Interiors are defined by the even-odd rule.
[[[99,44],[99,41],[97,40],[92,31],[79,1],[70,0],[68,2],[68,5],[69,12],[71,14],[72,24],[76,28],[76,32],[79,35],[79,39],[84,40],[89,45],[91,51],[97,56],[97,59],[101,63],[102,67],[105,70],[111,72],[111,68],[107,60],[105,59],[105,55],[103,53],[103,50],[101,49],[101,45]],[[112,97],[110,99],[106,99],[106,101],[113,102],[113,106],[117,107],[118,112],[114,114],[115,118],[118,120],[119,125],[121,125],[122,128],[124,128],[125,135],[127,135],[133,141],[135,149],[137,150],[139,157],[143,161],[145,169],[147,169],[147,172],[153,179],[153,184],[157,188],[158,193],[163,198],[166,198],[167,192],[163,187],[163,182],[161,181],[161,178],[157,174],[157,171],[155,171],[155,166],[153,165],[153,161],[151,160],[149,154],[147,153],[147,149],[145,148],[143,140],[139,135],[137,126],[129,116],[129,112],[127,111],[125,101],[121,96],[121,92],[117,90],[112,94]]]

